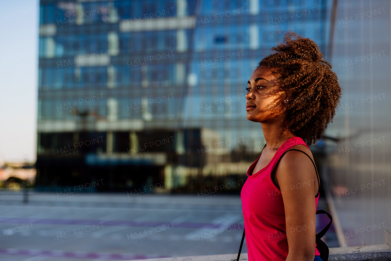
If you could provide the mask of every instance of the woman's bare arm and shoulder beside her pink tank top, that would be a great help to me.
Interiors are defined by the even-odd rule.
[[[309,154],[307,150],[305,152]],[[285,208],[289,247],[286,261],[313,261],[316,239],[315,194],[318,191],[314,165],[303,152],[292,150],[282,157],[276,170],[276,179]]]

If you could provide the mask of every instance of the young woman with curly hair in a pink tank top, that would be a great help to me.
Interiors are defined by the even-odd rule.
[[[241,192],[249,261],[321,261],[320,181],[308,145],[332,121],[341,88],[314,41],[287,32],[248,81],[247,119],[266,144]],[[304,153],[303,153],[304,152]]]

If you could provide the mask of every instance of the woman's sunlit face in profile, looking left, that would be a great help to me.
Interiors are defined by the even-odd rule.
[[[262,122],[281,115],[283,92],[278,88],[278,78],[271,69],[261,65],[248,81],[246,94],[247,119]]]

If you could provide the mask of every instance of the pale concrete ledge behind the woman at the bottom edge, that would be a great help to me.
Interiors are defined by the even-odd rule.
[[[186,257],[165,257],[154,259],[139,259],[132,261],[236,261],[238,254],[224,254],[212,256],[186,256]],[[383,257],[383,259],[375,259]],[[348,246],[330,248],[328,260],[338,261],[363,261],[363,260],[391,260],[391,247],[387,244],[370,246]],[[247,253],[240,255],[240,260],[248,261]]]

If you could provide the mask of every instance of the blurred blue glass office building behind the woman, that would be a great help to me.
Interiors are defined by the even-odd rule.
[[[277,30],[326,53],[328,4],[41,0],[37,189],[239,190],[265,144],[246,82]]]

